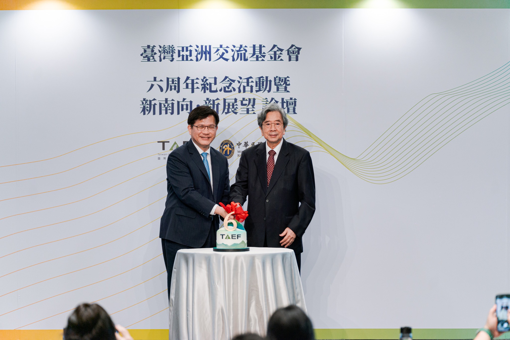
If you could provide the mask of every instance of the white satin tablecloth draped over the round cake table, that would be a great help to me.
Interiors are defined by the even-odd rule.
[[[255,248],[177,251],[170,289],[170,340],[230,340],[266,334],[272,313],[295,304],[307,311],[294,251]]]

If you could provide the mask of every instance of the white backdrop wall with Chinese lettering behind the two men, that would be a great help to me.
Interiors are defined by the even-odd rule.
[[[250,97],[254,112],[263,98],[296,98],[291,117],[356,158],[427,95],[505,65],[509,19],[488,9],[0,12],[0,329],[62,328],[82,301],[130,328],[167,328],[164,157],[189,139],[187,114],[144,115],[143,98],[195,106]],[[298,61],[284,50],[277,62],[141,62],[147,44],[156,53],[211,45],[212,60],[220,44],[301,50]],[[290,85],[233,96],[184,84],[146,92],[154,77],[187,76],[282,76]],[[356,176],[288,127],[290,142],[317,151],[301,271],[316,328],[482,324],[494,295],[510,288],[509,114],[495,110],[387,184]],[[261,141],[254,119],[220,114],[213,146],[241,143],[231,177],[244,142]],[[165,151],[157,141],[169,141]]]

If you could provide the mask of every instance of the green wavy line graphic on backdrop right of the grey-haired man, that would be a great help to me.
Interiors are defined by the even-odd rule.
[[[288,117],[311,139],[308,142],[317,144],[354,175],[373,184],[388,184],[410,174],[455,137],[509,102],[510,62],[465,85],[429,94],[356,158],[335,150]]]

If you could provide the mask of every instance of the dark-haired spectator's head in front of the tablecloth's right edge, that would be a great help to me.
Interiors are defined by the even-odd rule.
[[[276,309],[267,324],[268,340],[314,340],[312,321],[298,306]]]

